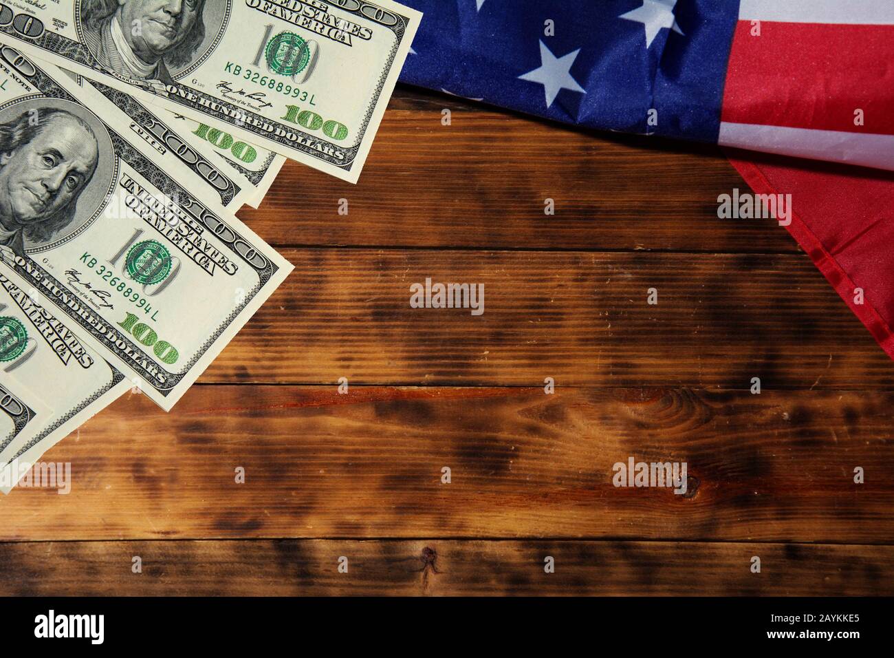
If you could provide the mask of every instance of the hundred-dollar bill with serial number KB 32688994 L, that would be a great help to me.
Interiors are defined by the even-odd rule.
[[[170,410],[292,268],[105,105],[0,47],[0,253]]]

